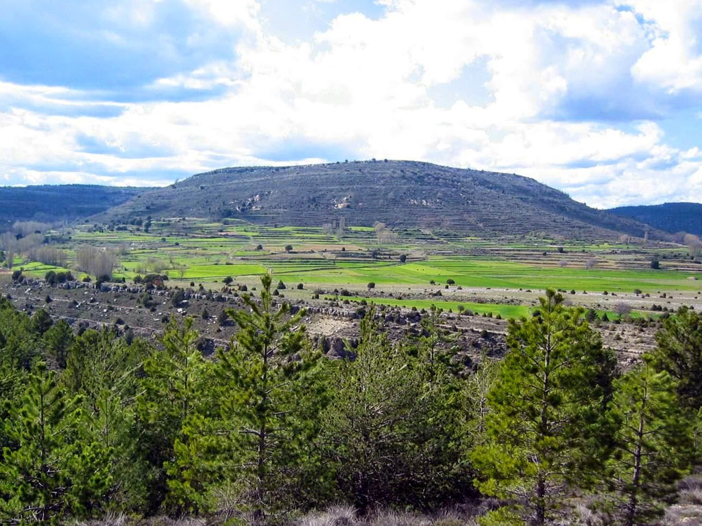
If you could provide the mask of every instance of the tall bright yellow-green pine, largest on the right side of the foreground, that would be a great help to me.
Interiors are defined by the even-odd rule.
[[[569,483],[587,485],[600,450],[602,386],[595,367],[602,344],[553,290],[530,319],[510,321],[509,351],[488,394],[488,443],[472,452],[479,490],[510,499],[495,524],[543,526],[563,505]]]

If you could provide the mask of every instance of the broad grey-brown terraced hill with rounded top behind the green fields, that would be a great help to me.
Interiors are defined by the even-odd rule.
[[[614,238],[643,236],[649,229],[528,177],[413,161],[223,168],[137,195],[95,220],[124,222],[145,215],[292,226],[321,226],[343,217],[350,225],[384,222],[478,236],[537,231]]]

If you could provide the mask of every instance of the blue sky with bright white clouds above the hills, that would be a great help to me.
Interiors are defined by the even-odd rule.
[[[409,159],[702,201],[702,0],[4,0],[0,184]]]

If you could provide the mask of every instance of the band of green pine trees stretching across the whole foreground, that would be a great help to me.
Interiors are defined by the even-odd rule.
[[[603,525],[633,526],[659,518],[698,462],[694,311],[626,370],[552,290],[509,322],[502,360],[467,366],[435,308],[400,341],[371,308],[355,359],[330,360],[262,285],[227,311],[238,330],[211,359],[187,318],[147,342],[74,334],[0,299],[0,522],[273,524],[340,501],[364,513],[491,497],[484,524],[542,526],[587,495]]]

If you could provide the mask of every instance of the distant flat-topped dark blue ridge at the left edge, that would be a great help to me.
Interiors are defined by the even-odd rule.
[[[149,190],[98,184],[43,184],[0,187],[0,229],[22,220],[55,222],[84,219]]]

